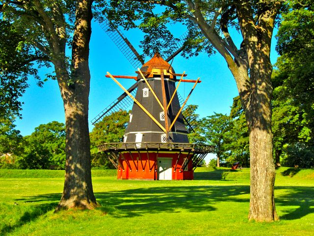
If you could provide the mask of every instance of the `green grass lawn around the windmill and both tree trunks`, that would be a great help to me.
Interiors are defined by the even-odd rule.
[[[54,214],[63,171],[0,170],[0,235],[314,235],[314,170],[277,170],[281,220],[274,223],[247,220],[249,169],[196,171],[191,181],[117,180],[115,172],[93,171],[102,207]]]

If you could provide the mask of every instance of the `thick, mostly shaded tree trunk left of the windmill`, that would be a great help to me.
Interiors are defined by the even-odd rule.
[[[64,103],[66,124],[66,168],[61,208],[94,208],[97,206],[91,178],[90,140],[88,130],[88,96],[90,71],[88,66],[91,35],[92,0],[78,0],[72,46],[72,74],[57,70]],[[62,64],[56,64],[62,67]],[[58,76],[59,75],[59,76]],[[69,79],[69,78],[68,78]]]

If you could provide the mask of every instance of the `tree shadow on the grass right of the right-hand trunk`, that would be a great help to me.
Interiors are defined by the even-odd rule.
[[[314,189],[313,187],[286,187],[278,186],[276,189],[284,189],[285,193],[275,197],[275,204],[287,206],[282,219],[295,220],[314,213]],[[293,207],[293,208],[289,208]]]

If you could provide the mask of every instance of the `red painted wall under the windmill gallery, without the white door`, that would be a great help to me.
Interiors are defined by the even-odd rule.
[[[132,156],[131,156],[132,155]],[[183,161],[187,156],[187,153],[181,153],[178,160],[179,153],[159,152],[158,156],[156,152],[149,152],[149,161],[146,152],[129,152],[120,153],[119,161],[123,165],[118,168],[118,179],[148,179],[157,180],[157,158],[172,158],[172,179],[183,180],[193,179],[192,160],[188,163],[188,170],[180,169],[183,165]],[[132,160],[133,158],[133,160]],[[141,161],[142,160],[142,161]],[[178,160],[178,162],[177,162]],[[176,166],[177,163],[177,166]],[[131,167],[131,168],[130,168]],[[175,170],[176,167],[176,170]]]

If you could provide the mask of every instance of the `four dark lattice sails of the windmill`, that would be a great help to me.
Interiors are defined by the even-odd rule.
[[[108,37],[113,41],[113,43],[117,46],[117,48],[121,51],[121,53],[129,60],[131,65],[137,69],[141,67],[141,65],[144,64],[144,60],[139,55],[139,53],[136,51],[136,49],[132,46],[131,42],[128,40],[128,38],[124,35],[124,33],[116,28],[114,30],[109,30],[109,23],[106,18],[102,19],[102,22],[99,22],[101,28],[105,31],[105,33],[108,35]],[[176,45],[174,52],[169,52],[167,55],[164,55],[166,58],[166,61],[169,62],[171,59],[173,59],[175,56],[177,56],[180,52],[183,50],[183,43],[184,38],[187,36],[187,31],[183,33],[179,37],[179,41]],[[124,77],[128,78],[128,77]],[[133,77],[129,77],[133,79]],[[138,83],[135,82],[129,89],[127,89],[133,96],[135,96],[137,91],[137,85]],[[183,98],[178,93],[179,102],[180,104],[183,104]],[[133,104],[133,101],[130,99],[130,97],[127,95],[127,93],[122,93],[117,99],[115,99],[113,102],[111,102],[103,111],[101,111],[95,118],[92,119],[92,124],[95,125],[97,122],[102,120],[105,116],[109,116],[113,112],[117,112],[120,110],[130,110],[131,105]],[[184,123],[188,128],[188,132],[194,132],[194,127],[197,124],[197,120],[195,117],[191,116],[193,114],[193,110],[186,106],[184,107],[183,111],[183,119]]]

